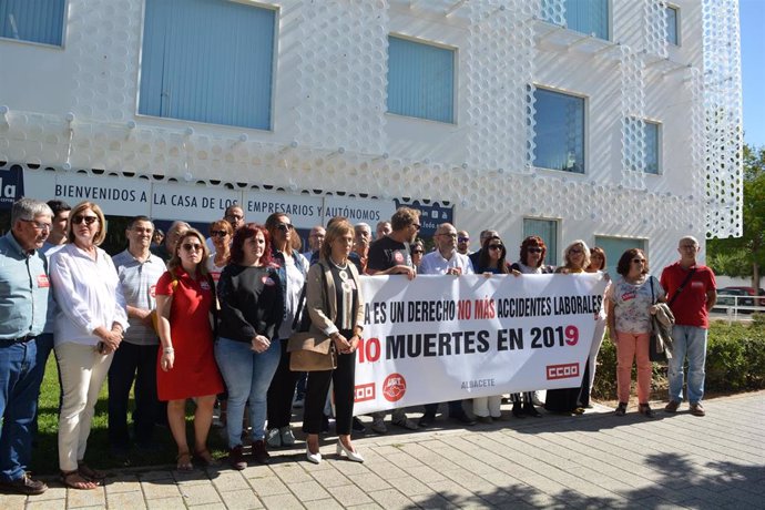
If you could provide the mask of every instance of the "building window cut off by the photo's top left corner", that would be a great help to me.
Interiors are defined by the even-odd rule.
[[[65,0],[0,0],[0,38],[60,47]]]

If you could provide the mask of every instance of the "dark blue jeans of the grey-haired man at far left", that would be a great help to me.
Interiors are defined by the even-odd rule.
[[[23,477],[32,456],[32,424],[44,367],[37,364],[37,341],[0,340],[0,479]]]

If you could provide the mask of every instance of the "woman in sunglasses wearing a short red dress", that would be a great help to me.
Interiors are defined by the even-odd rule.
[[[193,469],[186,441],[186,400],[194,398],[194,457],[214,463],[207,450],[215,397],[223,379],[213,353],[211,313],[215,314],[215,283],[207,273],[207,245],[195,230],[181,234],[167,272],[156,283],[160,353],[156,389],[167,402],[167,422],[177,445],[177,469]]]

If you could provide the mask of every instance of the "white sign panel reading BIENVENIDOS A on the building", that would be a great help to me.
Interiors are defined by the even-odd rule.
[[[137,178],[55,175],[53,196],[74,205],[95,202],[104,214],[135,216],[150,213],[151,183]]]

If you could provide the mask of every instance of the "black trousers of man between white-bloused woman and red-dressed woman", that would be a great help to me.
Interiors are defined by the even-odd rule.
[[[109,368],[109,442],[112,446],[126,447],[130,442],[128,404],[133,381],[135,441],[145,445],[152,439],[154,424],[161,418],[162,412],[156,397],[159,348],[157,345],[145,346],[123,341],[114,351],[112,366]]]

